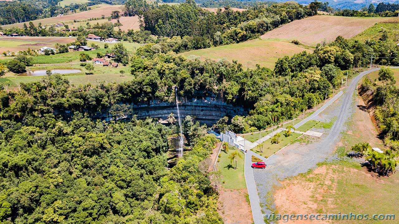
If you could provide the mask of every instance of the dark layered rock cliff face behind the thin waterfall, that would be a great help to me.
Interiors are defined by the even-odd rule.
[[[200,124],[211,126],[220,118],[228,116],[232,118],[235,115],[245,115],[247,110],[240,106],[233,106],[214,98],[198,99],[179,99],[180,116],[184,119],[186,116],[195,117]],[[154,100],[150,104],[132,105],[132,114],[137,119],[160,118],[166,120],[169,114],[177,116],[176,103],[159,102]]]

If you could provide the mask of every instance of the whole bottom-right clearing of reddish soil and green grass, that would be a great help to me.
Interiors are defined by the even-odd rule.
[[[349,214],[352,212],[353,214],[369,214],[369,217],[372,214],[397,213],[397,207],[392,205],[399,203],[398,175],[376,178],[371,174],[359,162],[321,163],[314,171],[282,181],[282,187],[275,189],[273,193],[276,210],[281,214],[338,214],[338,212]],[[396,220],[368,220],[367,222],[397,223]],[[350,224],[366,223],[366,221],[336,220],[320,223]]]

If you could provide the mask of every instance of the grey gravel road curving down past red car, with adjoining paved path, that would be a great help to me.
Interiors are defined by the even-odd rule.
[[[351,81],[348,89],[343,94],[344,98],[337,120],[329,130],[328,136],[321,141],[306,145],[306,149],[282,150],[276,153],[272,157],[265,159],[267,163],[266,169],[251,169],[251,155],[257,154],[252,151],[247,152],[245,155],[245,180],[255,224],[263,224],[264,214],[271,214],[269,206],[260,206],[259,204],[264,205],[270,202],[268,192],[271,191],[273,185],[278,185],[279,180],[299,173],[305,173],[334,153],[340,132],[344,129],[344,123],[352,113],[353,94],[357,83],[364,75],[379,69],[364,71]]]

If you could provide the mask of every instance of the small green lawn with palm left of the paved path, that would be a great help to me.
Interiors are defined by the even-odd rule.
[[[233,151],[238,151],[241,155],[237,157],[237,169],[234,169],[234,166],[230,164],[229,155]],[[220,151],[220,157],[218,158],[217,169],[221,171],[221,182],[223,188],[225,189],[244,189],[247,187],[245,184],[244,177],[244,153],[238,150],[235,147],[229,147],[228,153],[225,151]],[[223,183],[224,182],[224,183]]]

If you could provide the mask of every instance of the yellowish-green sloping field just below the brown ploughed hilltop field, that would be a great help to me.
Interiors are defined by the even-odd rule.
[[[181,53],[186,57],[190,55],[200,56],[201,60],[237,60],[244,68],[255,68],[257,64],[273,69],[279,57],[292,56],[302,51],[312,52],[300,45],[279,40],[255,39],[242,43],[223,45]]]

